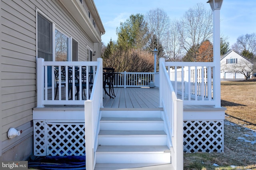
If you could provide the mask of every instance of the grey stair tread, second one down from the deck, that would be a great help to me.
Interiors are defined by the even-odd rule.
[[[113,131],[113,130],[100,130],[100,136],[166,136],[164,131]]]

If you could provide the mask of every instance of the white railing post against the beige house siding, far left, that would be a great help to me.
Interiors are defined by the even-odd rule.
[[[44,107],[44,59],[38,58],[36,65],[37,107]]]

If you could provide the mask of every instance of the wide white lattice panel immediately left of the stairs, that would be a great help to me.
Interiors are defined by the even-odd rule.
[[[84,123],[49,123],[47,131],[47,155],[85,155]]]

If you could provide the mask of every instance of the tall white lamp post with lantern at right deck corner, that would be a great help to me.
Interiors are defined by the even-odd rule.
[[[213,12],[213,62],[215,67],[213,96],[216,102],[215,107],[220,107],[220,8],[223,0],[208,0]]]

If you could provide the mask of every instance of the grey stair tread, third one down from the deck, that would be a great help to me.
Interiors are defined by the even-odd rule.
[[[170,153],[166,145],[153,146],[98,146],[97,153]]]

